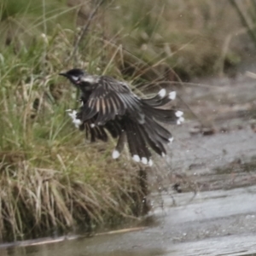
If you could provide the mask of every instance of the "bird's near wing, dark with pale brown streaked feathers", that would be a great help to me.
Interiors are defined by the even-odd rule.
[[[95,125],[104,125],[125,114],[143,122],[141,102],[125,83],[102,76],[91,84],[90,97],[82,107],[82,122],[95,117]]]

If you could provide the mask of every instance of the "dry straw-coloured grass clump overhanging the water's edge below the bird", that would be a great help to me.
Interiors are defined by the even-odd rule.
[[[3,240],[51,235],[56,231],[91,231],[95,226],[115,224],[114,218],[132,218],[142,213],[137,207],[144,195],[137,172],[131,166],[105,156],[105,160],[99,159],[99,154],[93,154],[91,149],[90,155],[84,154],[82,148],[63,147],[62,151],[52,154],[52,168],[47,162],[53,160],[44,152],[40,161],[47,160],[41,165],[35,165],[25,155],[3,154]],[[7,160],[10,155],[13,159],[17,157],[13,164]]]

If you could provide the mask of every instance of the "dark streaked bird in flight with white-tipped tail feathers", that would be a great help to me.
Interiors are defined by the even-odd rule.
[[[81,91],[79,111],[67,110],[73,124],[85,131],[91,142],[108,141],[108,133],[118,138],[113,159],[119,158],[125,141],[136,162],[152,166],[149,148],[166,155],[165,145],[173,138],[160,123],[180,125],[184,120],[182,111],[160,108],[176,98],[175,91],[161,89],[154,97],[141,98],[125,82],[105,75],[90,75],[78,68],[60,75]]]

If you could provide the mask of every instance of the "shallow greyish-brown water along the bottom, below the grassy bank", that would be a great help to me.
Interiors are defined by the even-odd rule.
[[[30,247],[2,248],[1,256],[253,255],[256,253],[256,186],[162,195],[143,230]],[[152,195],[158,197],[159,194]],[[152,223],[152,222],[151,222]]]

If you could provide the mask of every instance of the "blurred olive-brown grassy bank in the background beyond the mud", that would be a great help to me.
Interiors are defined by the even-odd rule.
[[[124,73],[148,80],[189,80],[223,73],[226,64],[234,67],[241,61],[239,47],[229,45],[224,52],[227,36],[241,27],[229,2],[121,0],[113,1],[113,7],[105,14],[105,34],[115,34],[124,49],[143,61],[136,68],[134,60],[125,58]]]

